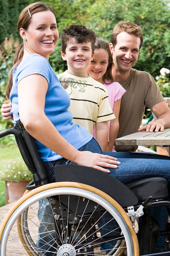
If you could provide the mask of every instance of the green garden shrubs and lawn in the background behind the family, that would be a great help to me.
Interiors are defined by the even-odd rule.
[[[12,67],[16,47],[21,42],[17,33],[20,11],[35,1],[0,0],[0,108],[4,102],[8,72]],[[93,29],[98,37],[110,42],[112,29],[119,21],[138,24],[144,35],[136,69],[147,71],[155,78],[164,97],[170,97],[170,0],[49,0],[42,1],[56,12],[59,34],[72,23],[79,23]],[[56,74],[66,69],[61,58],[59,39],[49,62]],[[162,73],[160,73],[162,70]],[[147,111],[145,111],[147,117]],[[0,115],[0,131],[12,127],[11,121],[4,121]],[[13,135],[0,140],[0,169],[10,158],[19,155]],[[15,145],[15,146],[14,146]],[[4,148],[5,147],[5,148]],[[4,181],[0,180],[1,198],[4,198]],[[0,205],[4,204],[0,202]]]

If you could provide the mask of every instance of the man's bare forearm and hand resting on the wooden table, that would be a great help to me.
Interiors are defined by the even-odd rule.
[[[164,128],[170,127],[170,108],[165,101],[157,103],[151,107],[151,110],[157,119],[150,121],[147,125],[138,129],[138,131],[146,130],[146,132],[163,132]]]

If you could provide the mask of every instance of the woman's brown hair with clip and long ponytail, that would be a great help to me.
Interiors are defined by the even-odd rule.
[[[36,3],[30,4],[27,7],[25,7],[19,15],[18,24],[17,24],[18,33],[19,33],[20,28],[23,28],[24,30],[27,30],[28,26],[30,24],[30,21],[31,21],[31,16],[34,13],[41,12],[41,11],[51,11],[55,15],[55,11],[50,6],[45,5],[42,2],[36,2]],[[23,42],[22,42],[18,46],[18,48],[15,52],[13,67],[11,68],[11,70],[9,72],[9,81],[8,81],[6,91],[5,91],[6,96],[8,98],[9,98],[9,94],[10,94],[11,88],[12,88],[12,74],[13,74],[13,71],[16,68],[16,66],[18,66],[18,64],[22,61],[23,54],[24,54],[24,45],[23,45]]]

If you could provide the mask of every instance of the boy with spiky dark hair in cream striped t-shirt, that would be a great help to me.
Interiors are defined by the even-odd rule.
[[[83,25],[72,24],[61,34],[62,59],[67,61],[67,70],[57,77],[68,92],[69,111],[73,121],[84,126],[91,134],[96,124],[96,139],[102,150],[107,148],[108,121],[115,118],[108,101],[108,92],[103,84],[87,73],[94,56],[96,35]]]

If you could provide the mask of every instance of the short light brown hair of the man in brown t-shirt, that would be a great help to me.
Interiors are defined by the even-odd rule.
[[[140,37],[140,47],[139,49],[142,47],[143,44],[143,33],[141,28],[137,25],[134,24],[130,21],[120,21],[112,30],[112,34],[111,34],[111,43],[113,44],[113,46],[116,45],[117,43],[117,35],[121,32],[126,32],[128,34],[132,34],[134,36]]]

